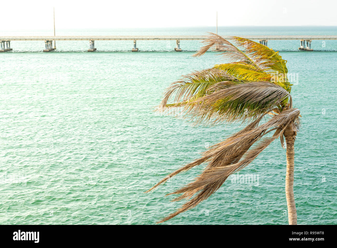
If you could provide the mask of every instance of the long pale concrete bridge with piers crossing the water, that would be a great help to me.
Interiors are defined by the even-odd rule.
[[[230,39],[230,36],[222,36],[225,39]],[[337,36],[243,36],[247,39],[258,40],[260,44],[268,46],[268,40],[299,40],[301,45],[300,50],[313,51],[311,48],[312,40],[327,40],[337,39]],[[204,40],[205,36],[193,36],[193,35],[158,35],[158,36],[0,36],[0,52],[6,52],[13,50],[10,48],[10,42],[16,40],[41,40],[44,41],[45,49],[43,52],[50,52],[56,49],[53,47],[53,41],[56,40],[88,40],[89,49],[88,52],[96,51],[95,40],[133,40],[132,52],[138,51],[136,47],[137,40],[176,40],[175,51],[181,51],[180,40]],[[305,44],[306,43],[306,44]],[[6,46],[5,46],[6,45]]]

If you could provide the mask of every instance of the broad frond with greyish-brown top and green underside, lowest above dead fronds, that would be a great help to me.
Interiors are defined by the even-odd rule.
[[[213,89],[216,89],[212,92]],[[291,98],[284,88],[270,82],[222,82],[209,87],[210,94],[185,106],[194,125],[244,121],[259,116],[285,99]]]

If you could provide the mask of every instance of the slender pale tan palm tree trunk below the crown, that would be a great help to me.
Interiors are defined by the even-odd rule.
[[[294,198],[294,143],[295,137],[285,137],[287,144],[287,172],[285,175],[285,197],[288,206],[289,225],[297,225],[297,213]]]

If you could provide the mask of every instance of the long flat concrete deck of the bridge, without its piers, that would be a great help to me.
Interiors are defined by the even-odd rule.
[[[230,39],[231,36],[223,36]],[[244,36],[252,40],[327,40],[337,36]],[[204,40],[205,36],[0,36],[0,40]]]

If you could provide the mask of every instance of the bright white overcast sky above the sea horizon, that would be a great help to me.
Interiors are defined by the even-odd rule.
[[[1,30],[215,26],[337,26],[335,0],[9,1]]]

